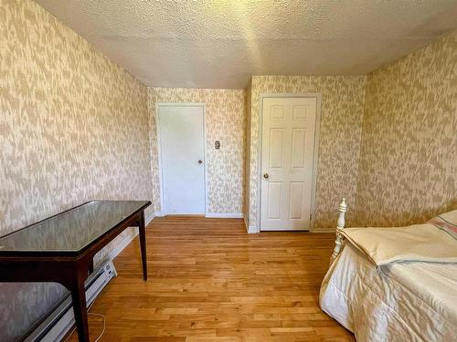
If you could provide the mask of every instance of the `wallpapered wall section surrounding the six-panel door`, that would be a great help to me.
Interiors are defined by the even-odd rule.
[[[321,93],[319,159],[314,228],[335,229],[341,196],[356,201],[356,179],[365,97],[365,76],[254,76],[250,109],[250,226],[257,223],[257,171],[260,95]],[[348,213],[348,222],[352,217]]]

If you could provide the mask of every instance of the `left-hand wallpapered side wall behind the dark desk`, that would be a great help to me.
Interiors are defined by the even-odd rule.
[[[90,199],[152,199],[146,88],[32,1],[0,0],[0,18],[0,234]],[[0,340],[64,292],[0,285]]]

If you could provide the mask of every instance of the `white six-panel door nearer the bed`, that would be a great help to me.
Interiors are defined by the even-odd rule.
[[[309,230],[317,98],[263,98],[260,230]]]

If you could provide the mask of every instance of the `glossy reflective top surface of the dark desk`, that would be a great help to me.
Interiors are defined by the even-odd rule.
[[[0,237],[0,255],[82,252],[143,211],[147,201],[92,201]]]

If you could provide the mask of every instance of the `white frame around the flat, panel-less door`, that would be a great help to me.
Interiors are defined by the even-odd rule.
[[[155,102],[155,130],[157,135],[157,162],[159,168],[159,189],[160,189],[160,211],[156,212],[156,216],[165,216],[164,206],[164,177],[162,164],[162,144],[160,139],[160,121],[159,110],[161,107],[201,107],[203,109],[203,190],[205,192],[205,216],[207,216],[208,197],[207,197],[207,126],[205,120],[205,103],[203,102]]]

